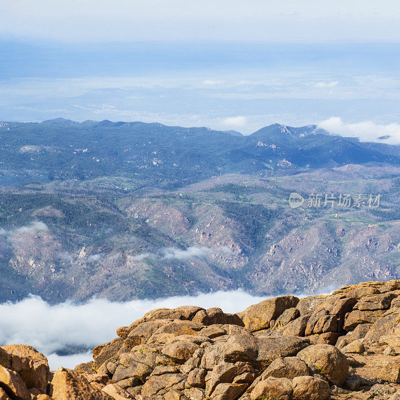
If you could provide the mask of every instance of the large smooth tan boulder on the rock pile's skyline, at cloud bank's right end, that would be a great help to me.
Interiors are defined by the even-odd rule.
[[[250,305],[237,315],[243,321],[244,327],[254,332],[268,328],[272,319],[276,320],[285,309],[295,307],[298,301],[294,296],[268,298],[258,304]]]

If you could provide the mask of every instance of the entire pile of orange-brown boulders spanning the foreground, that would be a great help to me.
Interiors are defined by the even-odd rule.
[[[400,280],[266,299],[237,314],[160,308],[74,370],[3,346],[0,400],[400,400]]]

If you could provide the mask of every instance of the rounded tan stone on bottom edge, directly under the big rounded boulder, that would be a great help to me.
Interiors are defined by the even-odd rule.
[[[296,376],[292,382],[292,400],[326,400],[330,396],[328,382],[312,376]]]

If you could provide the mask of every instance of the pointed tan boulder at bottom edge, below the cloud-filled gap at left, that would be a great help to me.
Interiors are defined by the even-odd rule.
[[[59,367],[51,380],[50,396],[54,400],[114,400],[104,391],[95,389],[73,369]]]

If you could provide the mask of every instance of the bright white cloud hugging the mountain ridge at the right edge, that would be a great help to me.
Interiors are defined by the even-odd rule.
[[[377,124],[372,121],[345,123],[339,117],[331,117],[319,122],[318,128],[345,137],[357,137],[360,141],[400,144],[400,124]]]

